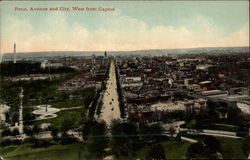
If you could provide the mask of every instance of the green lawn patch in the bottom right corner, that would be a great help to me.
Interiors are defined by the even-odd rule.
[[[217,137],[221,145],[223,159],[247,159],[242,149],[243,140]]]

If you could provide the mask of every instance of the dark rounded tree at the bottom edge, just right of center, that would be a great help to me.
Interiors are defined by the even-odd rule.
[[[165,160],[166,154],[165,149],[161,144],[153,145],[146,154],[146,159],[152,160]]]

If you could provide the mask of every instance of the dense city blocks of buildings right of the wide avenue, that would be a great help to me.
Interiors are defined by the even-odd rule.
[[[128,115],[147,119],[155,113],[199,112],[207,100],[226,102],[246,113],[250,81],[236,76],[250,76],[247,67],[238,67],[242,59],[191,54],[117,57]]]

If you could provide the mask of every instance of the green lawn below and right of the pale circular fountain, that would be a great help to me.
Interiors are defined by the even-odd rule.
[[[51,125],[55,128],[60,128],[62,123],[67,120],[72,122],[72,126],[70,128],[77,128],[79,127],[79,123],[82,119],[82,108],[79,109],[72,109],[72,110],[64,110],[57,112],[56,118],[45,119],[36,121],[36,124],[42,123],[51,123]]]

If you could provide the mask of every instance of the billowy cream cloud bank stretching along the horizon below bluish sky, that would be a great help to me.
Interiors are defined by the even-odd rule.
[[[80,23],[69,24],[64,14],[52,14],[43,20],[43,30],[28,20],[11,17],[4,27],[1,48],[12,52],[141,50],[193,47],[249,46],[249,25],[225,34],[207,17],[187,19],[182,27],[154,26],[128,16],[106,16],[101,29],[90,30]]]

